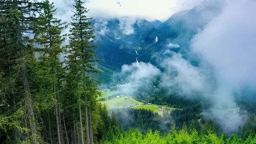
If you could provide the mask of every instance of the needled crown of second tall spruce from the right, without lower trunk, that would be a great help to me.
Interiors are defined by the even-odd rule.
[[[42,3],[42,11],[39,14],[34,22],[34,41],[41,46],[35,49],[39,60],[33,66],[34,85],[39,87],[35,91],[36,101],[40,102],[38,107],[46,111],[58,102],[54,95],[58,95],[62,89],[60,79],[63,78],[64,69],[59,57],[64,52],[60,45],[65,40],[61,32],[67,25],[54,18],[56,9],[49,1]],[[53,90],[54,84],[56,90]]]

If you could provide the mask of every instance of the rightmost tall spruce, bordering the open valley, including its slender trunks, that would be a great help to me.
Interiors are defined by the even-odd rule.
[[[94,40],[93,28],[90,26],[90,20],[86,16],[88,10],[84,8],[83,2],[75,0],[74,14],[72,16],[72,22],[70,23],[70,45],[68,47],[69,56],[67,61],[67,67],[69,70],[69,77],[71,81],[76,83],[76,97],[78,101],[79,110],[79,124],[81,133],[81,143],[84,143],[83,139],[83,126],[82,126],[82,111],[84,111],[85,123],[86,123],[86,141],[87,143],[93,143],[93,130],[91,121],[91,109],[90,109],[90,98],[87,83],[90,80],[90,73],[96,73],[93,63],[97,61],[95,59],[95,45],[92,45]],[[68,83],[72,83],[72,82]],[[90,90],[89,90],[90,91]],[[90,100],[90,101],[89,101]],[[81,105],[84,105],[84,110],[81,109]]]

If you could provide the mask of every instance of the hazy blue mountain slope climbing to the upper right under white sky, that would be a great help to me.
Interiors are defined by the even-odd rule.
[[[172,51],[180,51],[186,54],[189,51],[189,42],[195,34],[203,29],[207,23],[218,15],[222,9],[221,1],[205,1],[197,7],[176,13],[162,23],[155,31],[151,31],[146,37],[147,41],[153,42],[158,37],[157,49],[151,54],[170,48]],[[168,44],[179,46],[167,46]],[[180,48],[177,50],[177,48]]]

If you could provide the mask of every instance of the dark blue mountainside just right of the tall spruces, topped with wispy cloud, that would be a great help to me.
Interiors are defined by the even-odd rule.
[[[132,21],[132,20],[131,20]],[[136,61],[136,51],[145,45],[145,37],[149,31],[155,30],[154,25],[144,19],[95,19],[96,50],[101,65],[113,70],[120,69],[125,63]]]

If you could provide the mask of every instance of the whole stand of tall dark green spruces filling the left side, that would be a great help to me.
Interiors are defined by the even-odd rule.
[[[49,1],[0,3],[1,143],[96,141],[104,110],[90,75],[96,45],[83,2],[74,1],[70,23]]]

